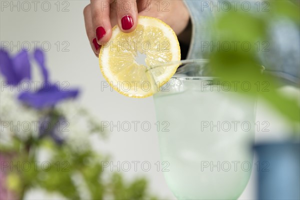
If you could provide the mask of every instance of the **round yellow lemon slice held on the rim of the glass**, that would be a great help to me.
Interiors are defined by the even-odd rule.
[[[180,47],[172,28],[148,16],[139,16],[137,27],[130,33],[115,25],[110,40],[99,52],[100,69],[107,82],[130,97],[147,97],[158,91],[178,64],[151,66],[178,60]]]

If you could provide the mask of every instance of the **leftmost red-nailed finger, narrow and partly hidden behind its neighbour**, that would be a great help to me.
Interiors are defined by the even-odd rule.
[[[93,49],[94,53],[98,55],[101,46],[97,43],[96,35],[95,32],[93,31],[90,4],[84,7],[83,16],[84,16],[86,35],[89,40],[90,46]]]

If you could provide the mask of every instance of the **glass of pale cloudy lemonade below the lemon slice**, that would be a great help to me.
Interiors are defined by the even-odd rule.
[[[213,77],[207,60],[180,64],[154,94],[165,180],[178,199],[237,199],[253,167],[255,99]]]

